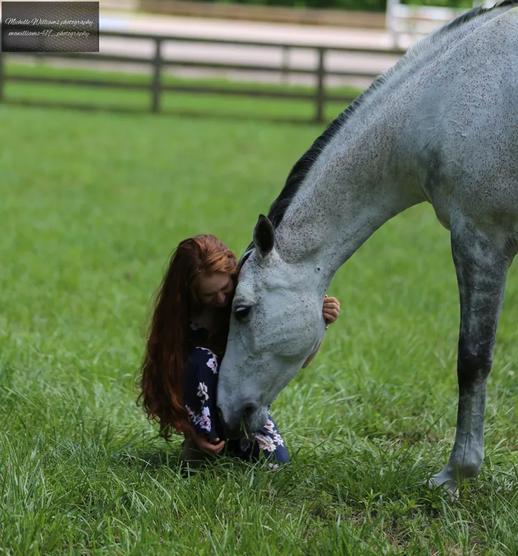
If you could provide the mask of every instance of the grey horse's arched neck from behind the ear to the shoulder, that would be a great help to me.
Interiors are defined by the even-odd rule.
[[[323,268],[325,279],[319,284],[329,285],[340,265],[376,229],[429,200],[419,185],[417,164],[421,159],[426,167],[428,143],[434,138],[416,119],[416,99],[426,80],[419,70],[511,8],[495,8],[432,33],[363,95],[311,166],[277,226],[278,250],[286,262]],[[441,84],[433,83],[433,89],[439,101]]]

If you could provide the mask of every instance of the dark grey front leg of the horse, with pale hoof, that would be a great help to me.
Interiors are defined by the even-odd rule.
[[[505,289],[514,253],[500,234],[476,229],[459,218],[451,226],[451,250],[460,293],[460,335],[457,374],[459,407],[455,444],[444,469],[430,486],[456,494],[458,482],[480,473],[484,459],[484,414],[487,377]]]

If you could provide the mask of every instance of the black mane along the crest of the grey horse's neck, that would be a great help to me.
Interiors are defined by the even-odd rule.
[[[452,22],[444,25],[440,29],[440,31],[441,33],[447,33],[448,31],[451,31],[452,29],[457,28],[458,26],[461,26],[471,21],[471,19],[474,19],[479,15],[482,15],[484,13],[487,13],[489,11],[498,8],[504,8],[505,6],[515,6],[515,5],[518,6],[518,0],[503,0],[497,3],[495,6],[492,6],[491,8],[484,8],[483,6],[478,6],[477,8],[473,8],[469,10],[467,13],[460,15],[459,17],[456,17],[455,19],[453,19]],[[403,58],[405,58],[405,56],[403,56]],[[403,60],[403,58],[400,60],[400,62]],[[398,62],[398,64],[400,64],[400,62]],[[343,126],[343,124],[345,124],[345,122],[350,118],[350,116],[353,115],[355,111],[357,111],[357,108],[359,108],[359,106],[362,106],[362,104],[364,104],[364,101],[368,97],[370,97],[373,94],[373,92],[375,92],[375,90],[380,88],[380,86],[382,86],[386,80],[387,80],[386,76],[384,75],[378,76],[373,81],[373,83],[369,88],[364,90],[364,92],[362,92],[362,94],[359,95],[359,97],[357,97],[357,99],[353,101],[353,103],[350,104],[345,111],[339,114],[327,126],[327,128],[322,133],[322,135],[316,138],[313,145],[309,147],[307,152],[305,152],[305,154],[303,154],[298,160],[298,162],[293,166],[291,172],[289,173],[286,179],[284,188],[282,188],[280,195],[271,204],[270,211],[268,212],[268,218],[270,219],[270,222],[272,222],[274,228],[276,228],[281,222],[282,218],[284,217],[284,213],[286,213],[286,209],[291,204],[293,197],[295,197],[302,182],[304,181],[311,167],[314,165],[318,156],[320,156],[320,154],[323,152],[323,149],[330,143],[330,141],[337,134],[339,129],[341,129],[341,126]],[[245,252],[251,250],[252,247],[254,247],[253,242],[250,243],[250,245],[247,247]]]

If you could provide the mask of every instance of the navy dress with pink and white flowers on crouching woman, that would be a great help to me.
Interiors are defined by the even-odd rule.
[[[206,329],[191,323],[191,340],[202,343],[207,334]],[[218,358],[206,347],[194,347],[187,357],[184,376],[184,404],[195,432],[222,439],[219,432],[222,432],[222,426],[216,414]],[[268,459],[275,461],[270,461],[270,467],[289,461],[288,450],[270,414],[260,432],[245,439],[227,441],[226,445],[230,455],[250,461],[257,461],[263,452]]]

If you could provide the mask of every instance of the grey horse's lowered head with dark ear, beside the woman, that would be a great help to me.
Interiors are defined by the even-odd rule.
[[[236,432],[242,418],[248,432],[263,427],[268,405],[323,337],[320,269],[286,263],[275,243],[273,226],[261,215],[254,247],[241,262],[218,378],[218,408],[227,432]]]

